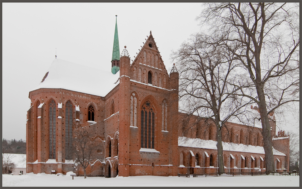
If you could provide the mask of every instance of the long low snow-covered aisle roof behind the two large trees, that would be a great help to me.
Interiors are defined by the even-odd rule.
[[[205,148],[205,149],[217,149],[216,144],[217,144],[217,141],[212,141],[212,140],[202,140],[200,138],[178,137],[178,146]],[[232,142],[231,143],[222,142],[222,146],[223,146],[223,150],[226,150],[226,151],[265,154],[262,146],[235,144]],[[275,148],[273,148],[273,154],[279,155],[279,156],[285,156],[284,153],[279,152]]]

